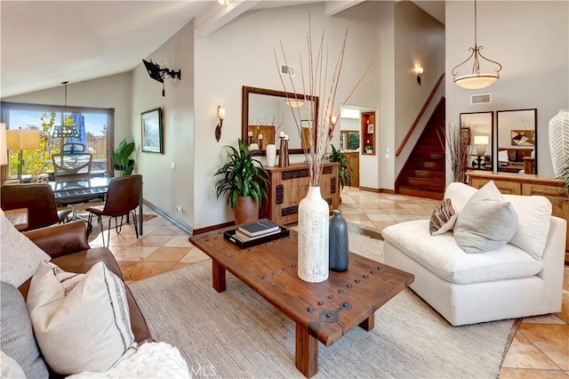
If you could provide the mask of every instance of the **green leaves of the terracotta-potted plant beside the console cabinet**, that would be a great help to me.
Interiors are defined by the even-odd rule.
[[[213,176],[222,176],[215,185],[217,198],[227,193],[227,204],[233,209],[237,205],[238,197],[252,196],[257,204],[260,204],[263,198],[267,198],[267,171],[258,160],[253,159],[249,152],[249,144],[239,139],[238,149],[233,146],[225,147],[230,149],[229,161],[213,174]]]

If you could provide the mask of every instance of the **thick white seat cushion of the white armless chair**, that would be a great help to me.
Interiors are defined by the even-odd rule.
[[[451,283],[525,278],[543,268],[541,260],[510,244],[486,253],[466,254],[456,244],[453,232],[431,236],[429,220],[397,223],[382,230],[381,234],[386,242],[413,261]]]

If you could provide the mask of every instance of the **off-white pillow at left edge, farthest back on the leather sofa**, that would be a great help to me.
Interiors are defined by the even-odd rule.
[[[0,277],[19,287],[36,272],[39,262],[52,257],[20,233],[0,210]]]

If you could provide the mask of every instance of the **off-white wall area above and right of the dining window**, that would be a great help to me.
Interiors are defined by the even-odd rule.
[[[61,81],[64,81],[62,78]],[[131,133],[131,73],[68,84],[68,105],[76,107],[114,108],[115,145],[132,141]],[[2,99],[28,104],[65,105],[65,87],[60,85],[44,91],[25,93]]]

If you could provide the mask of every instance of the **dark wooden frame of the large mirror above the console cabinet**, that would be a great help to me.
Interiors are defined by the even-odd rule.
[[[256,94],[264,94],[264,95],[268,95],[268,96],[277,96],[277,97],[282,97],[284,99],[289,98],[289,99],[301,99],[301,100],[306,100],[306,101],[314,101],[315,105],[316,105],[316,112],[315,112],[315,125],[318,125],[318,96],[311,96],[311,95],[304,95],[301,93],[285,93],[283,91],[276,91],[276,90],[268,90],[266,88],[257,88],[257,87],[248,87],[248,86],[243,86],[243,91],[242,91],[242,108],[241,108],[241,139],[242,141],[248,141],[248,135],[247,133],[249,132],[249,94],[250,93],[256,93]],[[296,125],[294,125],[296,127]],[[316,134],[316,128],[314,128],[313,131],[313,138],[315,143],[313,144],[313,146],[316,146],[316,138],[317,138],[317,134]],[[275,141],[276,142],[276,141]],[[307,149],[307,152],[310,151],[310,149]],[[289,154],[304,154],[304,149],[300,148],[300,149],[289,149],[288,150]],[[278,147],[276,149],[276,153],[278,153]],[[252,155],[264,155],[265,154],[265,149],[260,149],[260,150],[254,150],[252,151]]]

